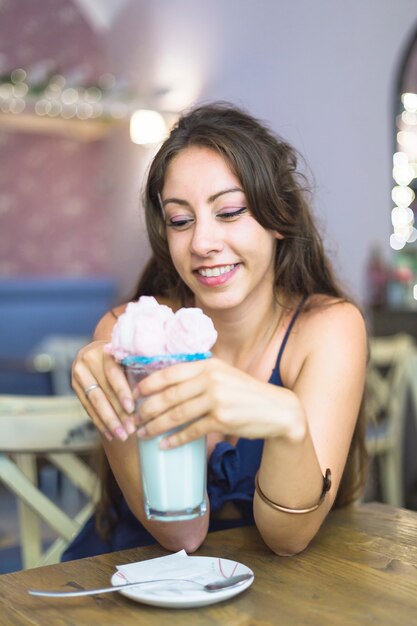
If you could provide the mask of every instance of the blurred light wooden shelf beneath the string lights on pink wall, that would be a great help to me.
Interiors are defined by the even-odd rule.
[[[67,120],[32,113],[0,113],[0,131],[59,135],[85,143],[102,139],[121,123],[123,120]]]

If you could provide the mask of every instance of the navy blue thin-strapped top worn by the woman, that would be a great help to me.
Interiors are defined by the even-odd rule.
[[[302,310],[305,298],[295,310],[282,340],[275,367],[269,378],[269,383],[283,387],[280,365],[288,338],[294,323]],[[259,469],[263,439],[240,438],[236,446],[227,441],[219,442],[207,465],[207,492],[210,500],[209,532],[224,530],[237,526],[248,526],[253,520],[253,494],[255,491],[255,474]],[[240,512],[239,519],[218,519],[216,513],[226,502],[233,502]],[[117,523],[108,541],[103,540],[95,527],[95,518],[92,516],[81,529],[61,557],[61,561],[72,561],[87,556],[95,556],[127,550],[156,543],[154,537],[142,526],[130,511],[123,495],[120,493],[114,513]]]

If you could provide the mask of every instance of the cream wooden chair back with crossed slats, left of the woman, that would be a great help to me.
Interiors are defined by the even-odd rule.
[[[0,481],[18,498],[23,567],[59,561],[61,553],[94,509],[97,476],[82,458],[98,445],[98,434],[75,396],[0,395]],[[71,518],[38,485],[37,461],[47,459],[87,496]],[[40,521],[58,535],[42,549]]]

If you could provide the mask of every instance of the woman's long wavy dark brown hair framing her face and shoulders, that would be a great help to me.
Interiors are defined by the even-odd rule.
[[[185,112],[151,163],[143,203],[153,256],[142,274],[134,299],[141,295],[159,295],[181,305],[192,302],[192,293],[171,260],[160,204],[170,162],[192,146],[220,154],[239,179],[255,219],[264,228],[283,235],[283,239],[277,241],[275,253],[277,296],[279,291],[288,302],[312,294],[349,300],[325,253],[308,202],[309,185],[299,171],[296,150],[266,124],[228,103],[203,105]],[[307,302],[307,306],[311,304]],[[361,412],[335,506],[354,500],[364,483],[364,428]]]

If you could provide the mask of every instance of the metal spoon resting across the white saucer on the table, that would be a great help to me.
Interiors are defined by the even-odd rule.
[[[221,589],[228,589],[229,587],[236,587],[242,585],[245,581],[253,578],[253,574],[238,574],[237,576],[230,576],[230,578],[224,578],[223,580],[216,580],[213,583],[204,585],[196,580],[187,580],[186,578],[158,578],[157,580],[140,580],[135,583],[126,583],[125,585],[114,585],[113,587],[102,587],[101,589],[83,589],[81,591],[43,591],[42,589],[28,589],[28,593],[31,596],[42,596],[45,598],[77,598],[79,596],[94,596],[101,593],[112,593],[113,591],[120,591],[121,589],[128,589],[129,587],[136,587],[137,585],[147,585],[149,583],[159,582],[187,582],[194,583],[202,588],[204,591],[220,591]]]

